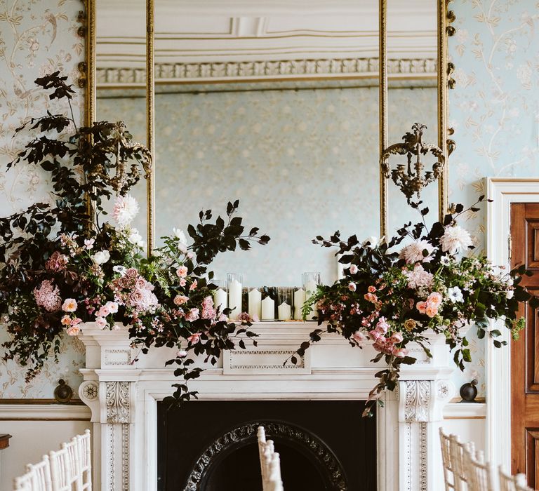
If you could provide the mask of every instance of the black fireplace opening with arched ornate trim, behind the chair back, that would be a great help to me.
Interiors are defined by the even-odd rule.
[[[364,401],[158,403],[158,489],[262,490],[262,425],[281,457],[285,490],[375,491],[376,420],[363,410]]]

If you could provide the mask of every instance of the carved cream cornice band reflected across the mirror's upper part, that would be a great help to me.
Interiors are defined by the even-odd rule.
[[[437,61],[432,58],[388,60],[392,78],[436,76]],[[217,63],[175,63],[155,66],[156,83],[204,81],[252,81],[274,79],[331,79],[377,77],[378,58],[326,60],[246,61]],[[143,86],[145,69],[133,67],[98,68],[98,86]]]

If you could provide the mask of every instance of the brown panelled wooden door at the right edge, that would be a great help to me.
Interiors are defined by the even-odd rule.
[[[539,296],[539,203],[511,206],[511,267],[521,264],[533,272],[521,285]],[[538,489],[539,311],[522,304],[520,314],[526,329],[511,342],[511,471],[526,473],[528,485]]]

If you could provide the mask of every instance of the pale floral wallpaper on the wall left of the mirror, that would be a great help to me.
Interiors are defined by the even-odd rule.
[[[77,65],[84,59],[84,39],[77,35],[79,0],[0,0],[0,213],[11,215],[36,201],[51,201],[50,183],[40,168],[19,165],[5,172],[24,144],[13,138],[15,128],[47,109],[57,110],[48,95],[34,85],[38,76],[61,70],[75,81]],[[77,91],[75,117],[80,119],[84,92]],[[62,108],[63,109],[63,108]],[[0,343],[6,332],[0,324]],[[78,339],[64,339],[60,363],[48,361],[28,384],[18,363],[0,359],[0,398],[52,398],[58,379],[74,389],[81,382],[84,346]],[[1,355],[1,349],[0,349]]]

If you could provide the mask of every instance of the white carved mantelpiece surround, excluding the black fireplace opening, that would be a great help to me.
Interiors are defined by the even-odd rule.
[[[189,389],[203,400],[365,400],[380,370],[372,347],[350,347],[326,336],[308,349],[299,365],[283,361],[308,339],[314,323],[258,323],[258,347],[225,352]],[[178,382],[164,362],[173,350],[138,356],[128,332],[102,331],[89,324],[79,336],[86,345],[86,368],[79,395],[92,413],[96,489],[157,490],[157,401]],[[453,368],[443,336],[431,335],[433,358],[420,347],[418,363],[401,371],[399,390],[378,408],[378,490],[443,488],[438,429],[442,408],[451,400]],[[138,358],[138,361],[133,360]],[[361,415],[354,415],[354,419]],[[361,448],[359,443],[358,448]]]

